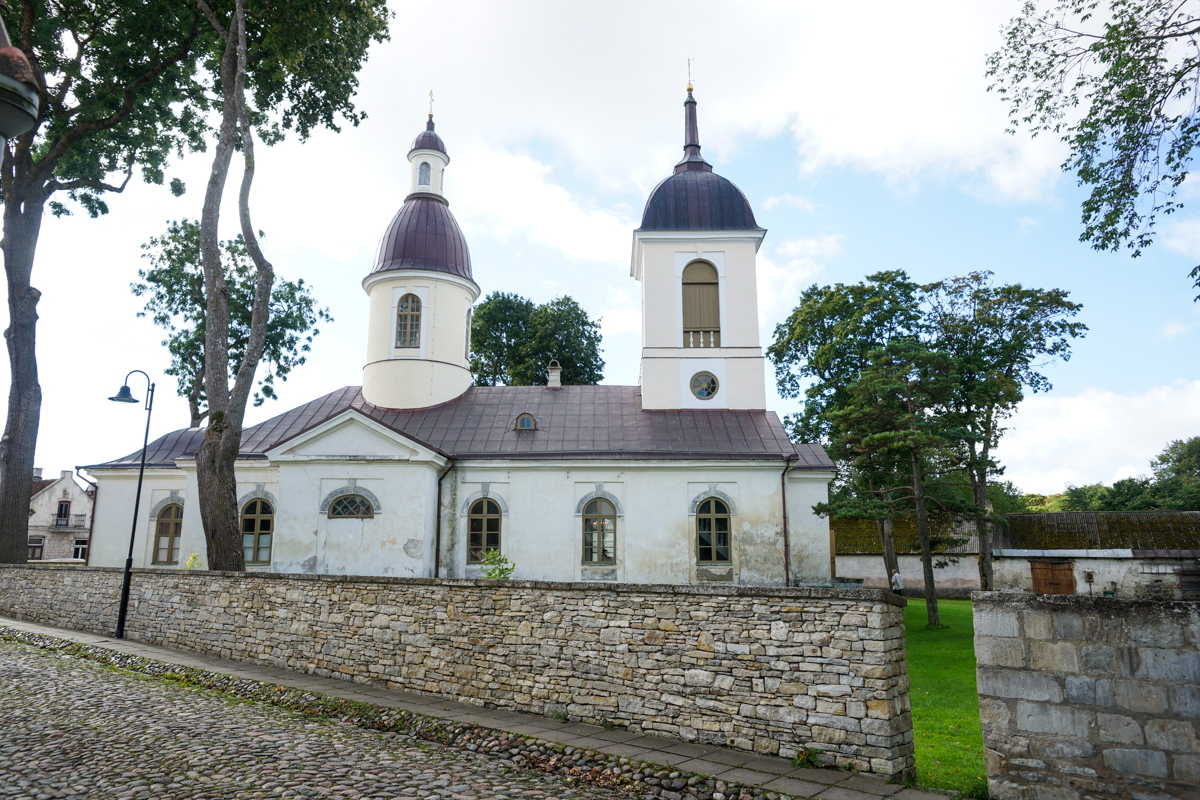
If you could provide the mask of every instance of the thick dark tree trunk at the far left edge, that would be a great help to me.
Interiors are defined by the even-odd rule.
[[[8,279],[8,329],[4,336],[12,383],[0,439],[0,564],[24,564],[29,555],[29,497],[42,413],[36,356],[37,301],[42,294],[29,282],[42,228],[42,203],[25,187],[11,186],[4,206],[2,249]]]

